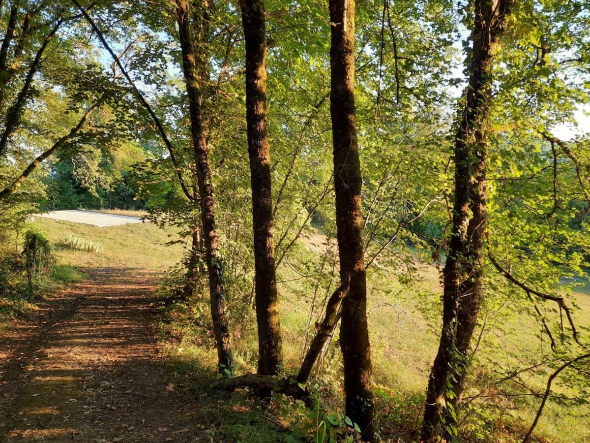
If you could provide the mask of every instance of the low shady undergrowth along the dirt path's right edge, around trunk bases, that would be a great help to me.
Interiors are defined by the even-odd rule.
[[[177,291],[160,289],[153,299],[159,313],[160,342],[174,376],[189,383],[199,400],[198,422],[211,426],[211,437],[220,441],[248,442],[353,442],[359,441],[358,426],[341,408],[339,395],[321,380],[310,385],[315,403],[308,409],[303,402],[283,395],[261,400],[255,392],[241,389],[219,392],[217,351],[207,299],[196,295],[179,301]],[[171,295],[172,294],[172,295]],[[234,372],[255,372],[254,356],[240,346],[242,333],[234,328]],[[292,373],[283,369],[283,375]],[[296,381],[293,380],[295,383]]]

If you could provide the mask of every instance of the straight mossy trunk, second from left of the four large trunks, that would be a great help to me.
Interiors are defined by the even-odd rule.
[[[246,122],[254,226],[258,373],[283,364],[273,239],[273,194],[266,119],[266,25],[263,0],[240,0],[246,46]]]

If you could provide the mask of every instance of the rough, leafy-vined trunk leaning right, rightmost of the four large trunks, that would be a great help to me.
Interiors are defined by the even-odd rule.
[[[421,441],[454,435],[467,353],[483,297],[487,211],[487,119],[494,48],[506,28],[510,0],[477,0],[469,84],[455,141],[453,231],[443,269],[442,332],[424,406]],[[452,392],[452,394],[450,394]],[[443,405],[447,406],[442,411]],[[444,423],[442,414],[444,413]],[[442,429],[441,429],[441,424]]]

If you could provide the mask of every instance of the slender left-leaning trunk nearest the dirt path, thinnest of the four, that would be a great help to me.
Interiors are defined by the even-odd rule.
[[[201,219],[205,243],[205,261],[209,273],[209,295],[211,297],[211,318],[217,344],[219,373],[228,376],[232,370],[231,337],[227,318],[226,294],[223,281],[223,265],[219,253],[219,237],[215,226],[215,200],[207,138],[202,124],[201,90],[199,70],[196,64],[195,42],[191,32],[191,15],[188,0],[176,2],[178,37],[182,51],[182,68],[189,97],[191,136],[196,177],[201,197]]]

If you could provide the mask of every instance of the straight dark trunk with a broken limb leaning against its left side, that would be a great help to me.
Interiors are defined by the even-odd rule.
[[[361,177],[355,122],[355,1],[330,0],[330,115],[334,154],[336,228],[340,281],[349,281],[342,300],[340,346],[344,363],[346,416],[373,441],[371,350],[366,317]]]

